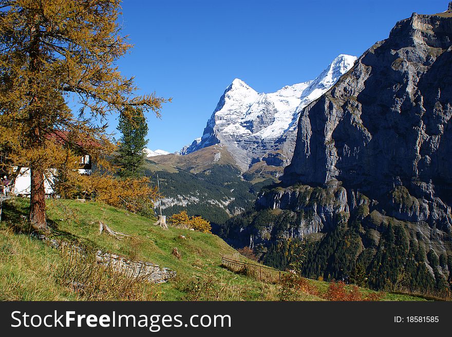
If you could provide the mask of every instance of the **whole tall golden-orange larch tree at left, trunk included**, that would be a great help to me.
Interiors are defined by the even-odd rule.
[[[131,47],[120,14],[120,0],[0,0],[0,147],[12,149],[11,166],[30,167],[34,229],[47,229],[44,174],[64,160],[54,135],[108,151],[101,123],[109,113],[140,106],[159,115],[167,101],[136,95],[133,78],[117,69]],[[69,100],[78,100],[78,114]]]

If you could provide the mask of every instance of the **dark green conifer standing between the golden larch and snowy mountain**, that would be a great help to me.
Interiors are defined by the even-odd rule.
[[[141,110],[136,110],[131,118],[124,114],[119,117],[118,130],[121,138],[118,146],[116,162],[119,166],[118,174],[122,178],[137,178],[143,175],[143,164],[146,153],[144,151],[147,140],[147,123]]]

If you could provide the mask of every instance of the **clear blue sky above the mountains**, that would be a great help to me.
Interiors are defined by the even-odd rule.
[[[149,148],[178,151],[202,135],[224,89],[240,78],[258,92],[314,79],[341,53],[359,56],[412,12],[448,1],[124,0],[134,48],[118,62],[143,93],[173,98],[148,116]],[[110,132],[116,128],[110,119]]]

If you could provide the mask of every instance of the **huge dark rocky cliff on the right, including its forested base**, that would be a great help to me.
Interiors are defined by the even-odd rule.
[[[305,245],[307,276],[347,278],[359,263],[376,288],[403,277],[445,287],[451,117],[452,10],[413,13],[300,111],[282,183],[262,192],[255,212],[231,221],[225,236],[278,267]]]

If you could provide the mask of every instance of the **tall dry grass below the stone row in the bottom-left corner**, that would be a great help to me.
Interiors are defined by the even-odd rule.
[[[55,250],[12,229],[0,230],[2,301],[154,301],[158,286],[130,278],[93,253],[68,246]]]

